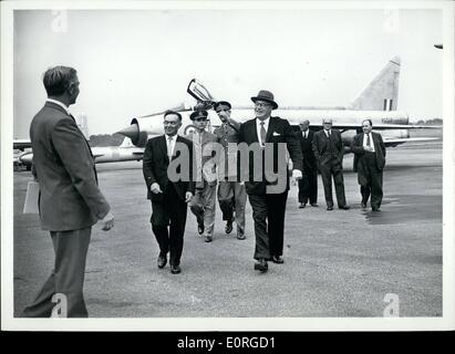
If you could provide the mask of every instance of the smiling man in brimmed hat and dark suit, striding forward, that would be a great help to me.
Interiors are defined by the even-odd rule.
[[[251,101],[256,118],[240,126],[239,162],[255,221],[254,258],[258,261],[255,269],[266,272],[269,259],[283,263],[285,212],[289,191],[286,147],[292,158],[294,178],[302,178],[302,152],[289,122],[270,116],[271,111],[278,107],[273,94],[260,91]]]

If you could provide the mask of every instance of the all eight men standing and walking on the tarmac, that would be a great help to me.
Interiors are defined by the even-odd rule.
[[[32,121],[30,137],[35,178],[40,185],[41,226],[51,233],[55,262],[50,278],[23,315],[55,315],[54,295],[60,294],[65,299],[65,316],[85,317],[89,314],[83,282],[91,228],[101,221],[102,229],[110,230],[114,227],[114,216],[97,186],[91,148],[68,111],[80,93],[76,71],[68,66],[51,67],[44,73],[43,84],[48,100]],[[165,134],[147,142],[143,175],[152,204],[152,230],[159,246],[158,268],[169,261],[173,274],[182,271],[188,205],[196,216],[199,235],[206,242],[213,240],[216,195],[226,221],[225,231],[230,233],[235,221],[239,240],[246,238],[248,195],[256,237],[255,270],[267,272],[269,261],[282,264],[290,175],[288,168],[283,174],[276,173],[280,171],[283,162],[286,164],[283,146],[292,159],[292,178],[299,181],[301,207],[307,202],[318,206],[319,169],[328,210],[333,209],[332,177],[338,207],[349,209],[342,176],[343,144],[340,132],[331,128],[331,121],[324,119],[323,129],[317,133],[309,131],[309,122],[303,122],[299,137],[287,119],[271,116],[278,108],[271,92],[260,91],[251,101],[255,118],[244,124],[230,117],[228,102],[217,102],[214,108],[221,125],[214,134],[206,132],[206,111],[192,113],[195,132],[187,136],[177,134],[182,115],[168,111],[164,114]],[[371,121],[366,119],[362,125],[363,133],[352,143],[354,168],[359,171],[362,207],[366,207],[371,195],[372,209],[379,211],[385,147],[381,135],[371,132]],[[248,150],[246,155],[247,173],[237,162],[240,145],[258,146],[256,152]]]

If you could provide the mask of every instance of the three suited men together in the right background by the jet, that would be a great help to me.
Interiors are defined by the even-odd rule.
[[[335,187],[337,204],[340,209],[349,210],[344,194],[343,154],[341,134],[332,129],[332,121],[324,118],[323,128],[317,133],[309,129],[309,121],[300,124],[300,146],[303,154],[306,179],[299,181],[299,208],[308,204],[318,207],[318,170],[324,187],[327,210],[333,210],[332,178]],[[366,208],[371,196],[372,211],[380,211],[382,202],[382,170],[385,165],[385,145],[381,134],[372,132],[371,119],[362,122],[363,133],[354,136],[351,150],[354,154],[354,171],[362,195],[361,206]]]

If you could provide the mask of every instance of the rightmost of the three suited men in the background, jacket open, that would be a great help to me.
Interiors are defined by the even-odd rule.
[[[379,133],[373,133],[371,119],[362,122],[363,133],[355,135],[351,143],[354,153],[354,171],[358,173],[362,208],[371,195],[371,209],[380,211],[382,201],[382,171],[385,166],[385,145]]]

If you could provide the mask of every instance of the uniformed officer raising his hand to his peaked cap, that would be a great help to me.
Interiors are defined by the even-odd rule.
[[[219,164],[218,202],[226,221],[225,231],[232,231],[234,211],[237,225],[237,239],[245,240],[245,205],[247,192],[245,184],[238,179],[237,171],[237,144],[240,123],[230,117],[230,103],[219,101],[214,106],[221,125],[214,131],[217,142],[224,147]]]

